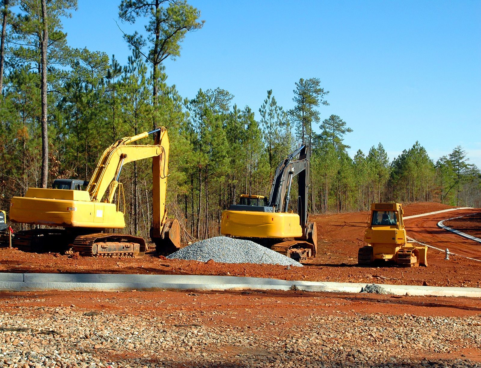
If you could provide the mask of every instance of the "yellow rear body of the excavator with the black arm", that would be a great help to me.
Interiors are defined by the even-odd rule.
[[[220,233],[246,238],[296,238],[303,236],[297,213],[224,210]]]

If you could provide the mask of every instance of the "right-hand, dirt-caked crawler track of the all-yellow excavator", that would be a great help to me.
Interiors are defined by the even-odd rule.
[[[126,234],[94,233],[75,238],[73,251],[84,257],[143,257],[145,240]]]

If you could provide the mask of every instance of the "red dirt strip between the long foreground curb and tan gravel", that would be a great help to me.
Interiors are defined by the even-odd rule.
[[[196,323],[199,325],[255,328],[269,321],[268,325],[263,326],[263,331],[275,336],[278,335],[279,328],[287,334],[292,334],[295,330],[310,329],[310,322],[304,319],[309,314],[347,317],[372,314],[402,316],[408,313],[421,317],[464,317],[477,316],[481,312],[479,300],[476,298],[299,291],[0,292],[0,301],[1,310],[13,316],[19,313],[19,307],[28,307],[30,318],[37,318],[44,313],[42,307],[67,307],[76,312],[97,311],[140,317],[155,315],[165,320],[172,320],[178,313],[189,316],[201,309],[202,313],[196,314]],[[235,318],[229,318],[232,315],[235,315]],[[425,354],[419,352],[418,359],[424,357]],[[480,350],[476,347],[460,348],[452,354],[441,353],[433,357],[467,357],[472,361],[481,361]]]

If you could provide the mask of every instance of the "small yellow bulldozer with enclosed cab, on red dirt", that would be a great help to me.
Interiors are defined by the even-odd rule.
[[[360,266],[370,266],[376,261],[393,261],[404,267],[428,266],[428,247],[413,245],[406,240],[400,203],[371,205],[364,241],[368,245],[359,248],[357,254]]]

